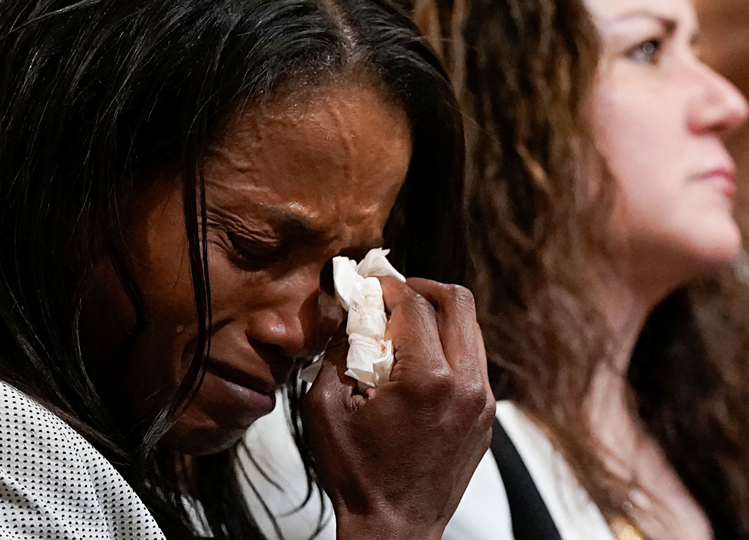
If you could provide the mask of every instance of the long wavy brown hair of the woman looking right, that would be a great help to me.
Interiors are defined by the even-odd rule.
[[[606,270],[592,263],[607,249],[616,189],[604,164],[590,159],[585,106],[598,66],[595,27],[580,0],[412,7],[464,78],[455,87],[465,90],[469,117],[473,289],[497,398],[548,427],[604,515],[628,514],[636,486],[604,464],[581,406],[615,346],[596,307]],[[582,178],[596,162],[604,181],[590,193]],[[749,538],[745,283],[730,271],[673,292],[650,314],[628,372],[631,406],[716,535],[732,539]]]

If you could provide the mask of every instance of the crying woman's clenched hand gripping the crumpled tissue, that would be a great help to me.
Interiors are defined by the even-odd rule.
[[[495,401],[473,295],[381,278],[395,350],[390,381],[365,394],[325,355],[304,432],[339,539],[439,539],[488,448]]]

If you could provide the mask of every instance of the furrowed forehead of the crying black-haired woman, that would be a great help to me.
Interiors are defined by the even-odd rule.
[[[407,118],[369,88],[245,111],[210,147],[209,203],[295,216],[308,228],[383,221],[410,164]],[[269,209],[274,209],[273,211]]]

